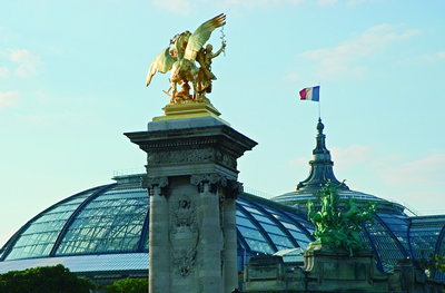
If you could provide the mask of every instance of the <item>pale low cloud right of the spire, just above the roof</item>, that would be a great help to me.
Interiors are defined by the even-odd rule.
[[[398,153],[378,152],[374,145],[330,148],[337,178],[348,178],[349,187],[415,206],[424,212],[445,196],[445,150],[429,149],[429,155],[407,160]],[[301,160],[294,160],[303,165]],[[345,176],[345,177],[338,177]],[[374,191],[374,192],[373,192]],[[445,207],[437,207],[437,209]],[[442,212],[443,212],[442,211]]]

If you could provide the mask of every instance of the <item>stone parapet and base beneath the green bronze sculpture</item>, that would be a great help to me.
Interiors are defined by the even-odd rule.
[[[250,257],[243,292],[248,293],[442,293],[444,285],[425,275],[422,264],[409,257],[394,273],[376,270],[372,252],[349,252],[332,244],[314,244],[301,254],[303,266],[286,264],[281,256]]]

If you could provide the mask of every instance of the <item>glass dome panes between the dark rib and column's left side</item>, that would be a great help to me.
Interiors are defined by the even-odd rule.
[[[109,191],[87,205],[69,227],[56,255],[136,252],[149,197],[140,187],[123,191]]]

